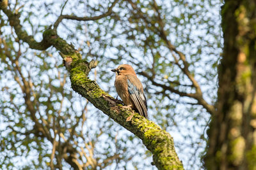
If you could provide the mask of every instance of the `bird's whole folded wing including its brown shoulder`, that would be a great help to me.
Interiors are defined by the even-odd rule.
[[[140,115],[148,118],[147,100],[143,93],[143,87],[136,76],[128,76],[128,92]]]

